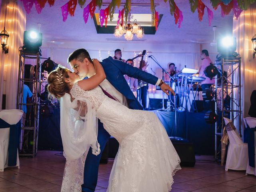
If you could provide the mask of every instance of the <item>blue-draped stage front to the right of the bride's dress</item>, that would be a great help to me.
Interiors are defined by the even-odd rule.
[[[214,155],[215,125],[207,124],[205,112],[177,112],[177,130],[174,125],[174,112],[154,110],[162,122],[168,136],[180,137],[194,144],[195,154]]]

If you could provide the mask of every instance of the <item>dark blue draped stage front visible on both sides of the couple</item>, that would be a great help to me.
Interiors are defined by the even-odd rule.
[[[39,150],[62,150],[59,112],[59,108],[54,108],[52,116],[44,117],[40,115]],[[204,121],[205,112],[177,112],[177,130],[174,126],[174,112],[161,110],[152,112],[158,116],[168,136],[184,138],[193,143],[195,154],[214,155],[214,125],[206,124]]]

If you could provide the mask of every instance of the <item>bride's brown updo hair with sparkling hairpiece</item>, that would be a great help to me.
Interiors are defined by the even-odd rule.
[[[69,91],[67,83],[64,81],[65,78],[69,78],[68,69],[63,66],[58,66],[55,70],[50,72],[47,78],[49,91],[49,97],[61,98],[66,92]]]

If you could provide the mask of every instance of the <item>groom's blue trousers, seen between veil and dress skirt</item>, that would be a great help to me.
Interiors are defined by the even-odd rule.
[[[98,143],[100,144],[100,154],[92,154],[92,149],[88,151],[84,165],[84,184],[82,192],[94,192],[98,180],[98,170],[102,152],[106,146],[110,134],[103,128],[103,124],[98,120]]]

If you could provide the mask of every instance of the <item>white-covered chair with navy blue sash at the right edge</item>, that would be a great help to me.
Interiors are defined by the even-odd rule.
[[[256,176],[256,118],[244,118],[244,142],[248,143],[248,163],[246,174]]]

